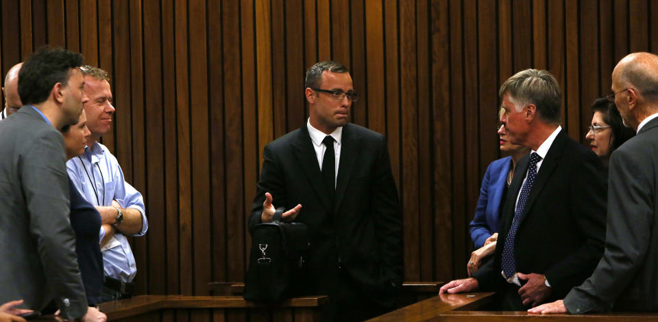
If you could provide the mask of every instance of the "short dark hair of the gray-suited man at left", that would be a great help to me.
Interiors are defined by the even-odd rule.
[[[24,105],[42,103],[48,99],[56,83],[66,86],[71,69],[84,64],[80,53],[60,47],[42,46],[25,60],[19,72],[19,96]]]

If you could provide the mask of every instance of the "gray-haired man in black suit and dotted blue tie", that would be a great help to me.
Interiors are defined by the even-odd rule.
[[[493,260],[440,293],[498,291],[499,308],[524,310],[563,297],[596,267],[605,235],[605,185],[594,152],[559,126],[561,95],[546,70],[523,70],[500,88],[519,161],[502,212]]]

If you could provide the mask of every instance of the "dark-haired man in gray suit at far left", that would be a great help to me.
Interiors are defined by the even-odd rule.
[[[104,321],[88,308],[69,223],[64,139],[87,100],[84,58],[40,49],[19,72],[25,103],[0,126],[0,303],[24,299],[42,310],[54,301],[66,319]]]

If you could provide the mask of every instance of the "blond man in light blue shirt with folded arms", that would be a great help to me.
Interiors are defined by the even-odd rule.
[[[148,230],[141,193],[126,182],[117,158],[99,142],[112,129],[112,91],[108,72],[84,66],[84,104],[90,135],[80,157],[66,163],[69,177],[80,194],[101,214],[101,251],[105,284],[100,301],[123,299],[134,294],[132,282],[137,267],[126,236],[142,236]]]

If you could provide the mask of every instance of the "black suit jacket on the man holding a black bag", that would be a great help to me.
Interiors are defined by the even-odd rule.
[[[372,299],[391,304],[391,288],[402,283],[402,215],[385,137],[343,126],[335,200],[327,197],[306,125],[267,144],[263,157],[249,228],[260,223],[265,192],[276,207],[302,204],[296,221],[312,236],[308,293],[334,294],[340,258]]]

